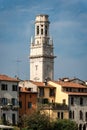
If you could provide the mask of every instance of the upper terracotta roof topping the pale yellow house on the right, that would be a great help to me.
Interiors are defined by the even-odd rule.
[[[53,81],[62,87],[69,87],[69,88],[87,88],[85,85],[79,84],[79,83],[74,83],[74,82],[64,82],[64,81]]]

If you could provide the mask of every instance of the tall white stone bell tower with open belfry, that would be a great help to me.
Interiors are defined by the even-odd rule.
[[[49,36],[48,15],[37,15],[35,37],[30,46],[30,80],[44,82],[54,78],[53,41]]]

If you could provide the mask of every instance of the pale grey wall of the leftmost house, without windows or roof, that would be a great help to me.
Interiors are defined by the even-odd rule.
[[[7,84],[7,90],[1,90],[1,85],[2,84]],[[12,123],[12,114],[15,114],[15,123],[18,123],[18,109],[12,110],[11,107],[8,104],[11,104],[11,99],[14,98],[16,99],[17,103],[19,102],[19,94],[18,91],[12,91],[12,85],[17,85],[17,82],[9,82],[9,81],[0,81],[0,118],[2,118],[3,114],[6,115],[6,120],[9,121],[9,123]],[[7,105],[2,104],[2,98],[7,99]],[[18,106],[18,104],[16,104]],[[3,107],[7,106],[9,109],[4,110]],[[12,106],[13,107],[13,106]]]

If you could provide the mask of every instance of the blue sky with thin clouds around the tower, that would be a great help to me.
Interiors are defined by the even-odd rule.
[[[87,0],[0,0],[0,74],[29,79],[30,40],[38,14],[49,15],[54,79],[87,80]]]

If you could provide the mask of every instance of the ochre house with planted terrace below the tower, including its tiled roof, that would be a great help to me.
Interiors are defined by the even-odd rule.
[[[41,113],[46,113],[50,120],[69,118],[68,106],[55,102],[56,95],[58,94],[55,85],[51,85],[49,82],[31,82],[37,86],[37,109]]]

